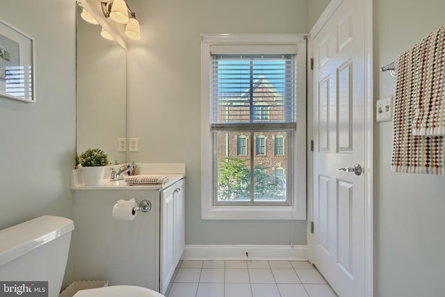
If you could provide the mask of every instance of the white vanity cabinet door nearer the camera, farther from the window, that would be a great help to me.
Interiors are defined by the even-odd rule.
[[[161,294],[175,272],[175,186],[161,193]]]

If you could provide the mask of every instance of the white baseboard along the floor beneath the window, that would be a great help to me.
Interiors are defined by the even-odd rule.
[[[186,246],[182,259],[307,261],[307,246],[189,245]]]

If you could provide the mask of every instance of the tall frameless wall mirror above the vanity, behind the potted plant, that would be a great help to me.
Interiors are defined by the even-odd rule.
[[[76,151],[99,147],[111,163],[126,163],[118,151],[127,138],[127,51],[101,37],[101,26],[85,22],[77,6]]]

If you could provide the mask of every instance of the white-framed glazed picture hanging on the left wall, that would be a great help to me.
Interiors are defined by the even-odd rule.
[[[0,96],[35,102],[34,39],[0,19]]]

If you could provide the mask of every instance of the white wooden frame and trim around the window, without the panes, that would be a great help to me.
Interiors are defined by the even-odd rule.
[[[210,65],[212,45],[295,45],[297,54],[297,119],[295,150],[288,205],[213,205],[210,127]],[[267,52],[264,52],[267,54]],[[201,216],[203,220],[305,220],[306,219],[306,35],[304,34],[202,34],[201,35]]]

